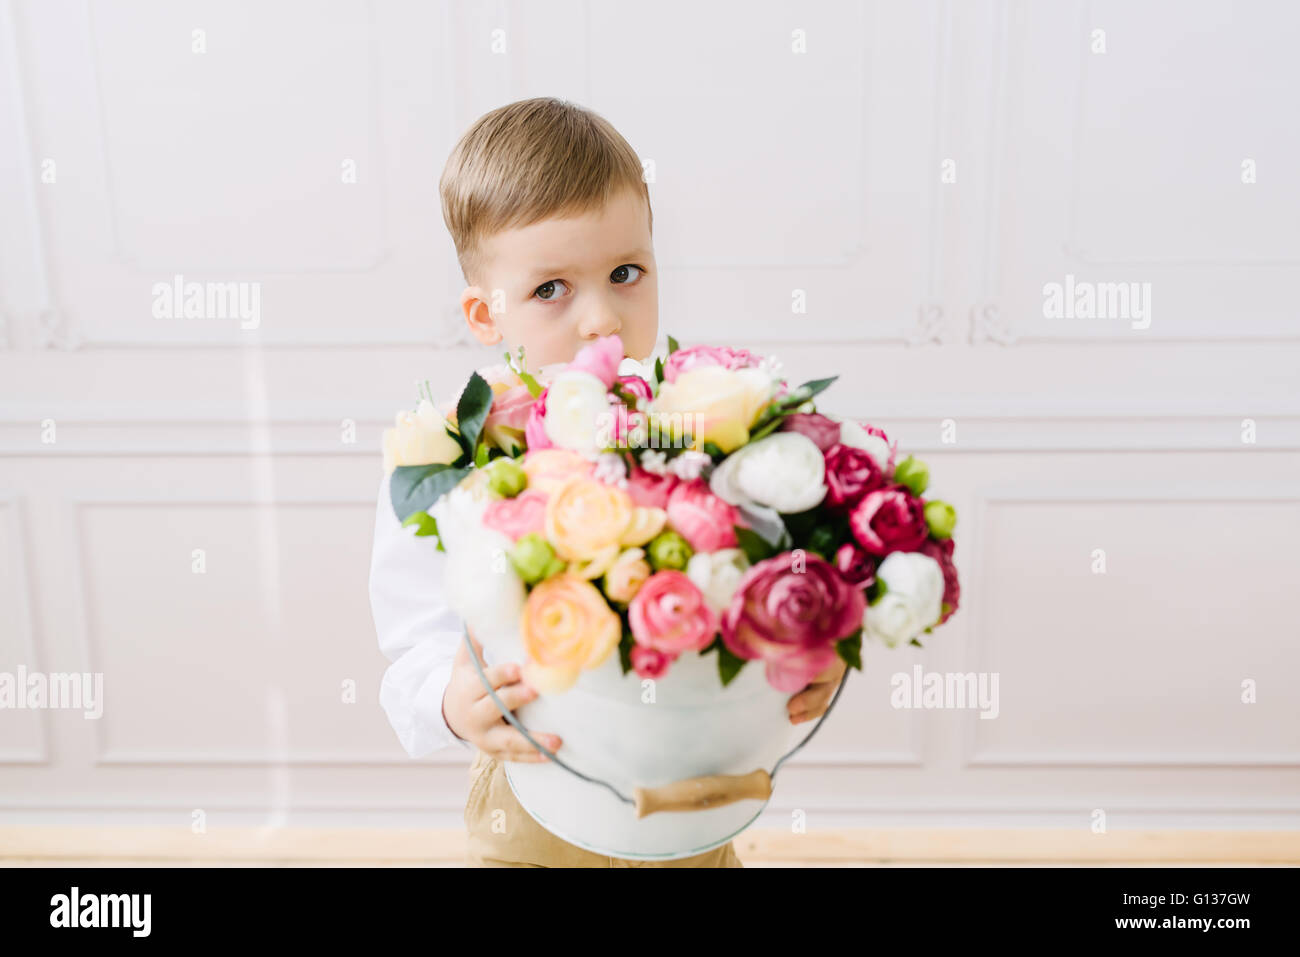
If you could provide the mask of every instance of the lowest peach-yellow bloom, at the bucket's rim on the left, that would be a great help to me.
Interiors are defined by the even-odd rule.
[[[604,663],[621,635],[618,614],[590,581],[573,575],[546,579],[524,602],[523,679],[542,693],[568,690],[584,670]]]

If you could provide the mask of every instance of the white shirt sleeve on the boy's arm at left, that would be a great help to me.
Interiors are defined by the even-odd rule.
[[[452,742],[473,749],[442,716],[442,696],[464,641],[462,620],[443,594],[446,560],[434,538],[417,538],[413,528],[398,521],[385,476],[374,515],[370,612],[380,650],[391,662],[380,685],[380,705],[412,758]]]

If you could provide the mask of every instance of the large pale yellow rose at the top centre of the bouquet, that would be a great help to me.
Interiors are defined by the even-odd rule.
[[[712,442],[731,452],[749,441],[754,420],[771,398],[772,377],[762,369],[702,365],[659,386],[659,395],[650,403],[651,424],[658,425],[660,436],[671,434],[675,425],[692,433],[690,447],[696,451]]]

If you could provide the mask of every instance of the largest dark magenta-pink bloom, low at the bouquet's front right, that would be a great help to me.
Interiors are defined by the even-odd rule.
[[[784,551],[741,577],[723,612],[723,642],[738,658],[764,662],[776,690],[798,692],[835,663],[835,642],[862,627],[866,606],[862,589],[829,562]]]

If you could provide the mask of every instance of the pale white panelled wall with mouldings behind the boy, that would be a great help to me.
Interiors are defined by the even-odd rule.
[[[0,0],[0,671],[104,675],[0,710],[0,823],[460,824],[464,753],[377,702],[378,439],[495,358],[452,143],[554,95],[653,161],[662,330],[841,373],[958,508],[961,611],[867,650],[763,823],[1300,826],[1297,44],[1227,0]],[[177,276],[256,328],[157,316]],[[998,718],[890,707],[915,663]]]

